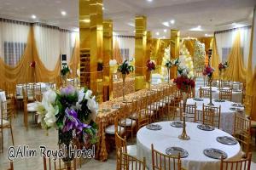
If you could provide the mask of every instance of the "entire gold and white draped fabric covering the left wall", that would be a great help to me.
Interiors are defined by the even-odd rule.
[[[72,70],[74,70],[74,75],[72,76],[75,77],[76,69],[79,65],[79,40],[77,39],[77,42],[75,44],[74,36],[78,34],[71,31],[60,30],[61,33],[56,34],[59,37],[53,37],[52,40],[52,42],[56,42],[59,44],[54,46],[58,48],[51,48],[51,50],[46,49],[47,52],[45,53],[41,51],[42,54],[46,54],[44,55],[44,57],[49,57],[48,63],[44,63],[44,57],[40,56],[40,54],[38,53],[38,48],[39,50],[44,49],[44,47],[47,47],[45,45],[47,42],[50,42],[52,44],[50,39],[51,37],[48,36],[49,39],[44,37],[45,42],[42,42],[42,39],[37,42],[35,39],[39,38],[36,37],[34,32],[38,31],[37,29],[35,29],[35,27],[29,23],[20,21],[13,22],[10,20],[6,21],[0,19],[0,77],[2,78],[2,81],[0,82],[0,87],[4,87],[4,82],[53,82],[56,77],[60,76],[61,61],[59,56],[63,53],[67,54],[67,61],[71,61],[70,65]],[[20,34],[22,34],[22,36],[20,36]],[[62,34],[62,36],[60,34]],[[26,40],[24,40],[25,37]],[[55,39],[57,39],[58,41],[56,41]],[[9,45],[11,49],[8,49],[8,47],[6,47],[6,42],[12,42],[15,43],[15,45]],[[24,43],[25,46],[21,46],[20,48],[20,43]],[[44,45],[38,47],[38,45],[40,44]],[[74,48],[74,46],[76,47]],[[21,50],[22,48],[24,49]],[[47,53],[56,55],[49,56]],[[10,65],[9,58],[4,58],[3,55],[8,57],[18,56],[19,59],[16,59],[15,63],[13,63],[15,65]],[[8,62],[6,62],[6,59]],[[35,61],[36,63],[35,68],[30,67],[32,61]],[[51,63],[51,69],[49,69],[49,62],[51,61],[55,62]]]

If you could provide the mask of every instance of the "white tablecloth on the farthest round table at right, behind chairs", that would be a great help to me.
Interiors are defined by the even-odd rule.
[[[201,88],[210,88],[210,87],[201,87]],[[230,88],[224,88],[230,89]],[[195,90],[195,97],[199,97],[199,88]],[[241,91],[232,91],[232,101],[236,103],[241,103],[242,92]],[[212,87],[212,99],[219,99],[219,90],[217,87]]]

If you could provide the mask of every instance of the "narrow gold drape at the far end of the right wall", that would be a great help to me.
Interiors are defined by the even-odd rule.
[[[213,42],[212,42],[212,58],[211,58],[211,66],[215,69],[213,72],[213,77],[218,78],[218,64],[219,64],[219,56],[218,56],[218,48],[217,48],[217,42],[216,42],[216,37],[213,37]]]

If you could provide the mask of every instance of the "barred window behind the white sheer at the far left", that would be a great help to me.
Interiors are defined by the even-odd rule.
[[[4,42],[4,62],[9,66],[17,65],[25,48],[25,42]]]

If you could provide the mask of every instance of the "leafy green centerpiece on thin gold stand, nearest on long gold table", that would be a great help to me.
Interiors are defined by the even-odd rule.
[[[125,60],[123,64],[119,65],[118,71],[122,73],[123,78],[123,101],[125,102],[125,77],[126,75],[129,75],[130,72],[134,71],[134,67],[132,65],[129,65],[128,60]]]

